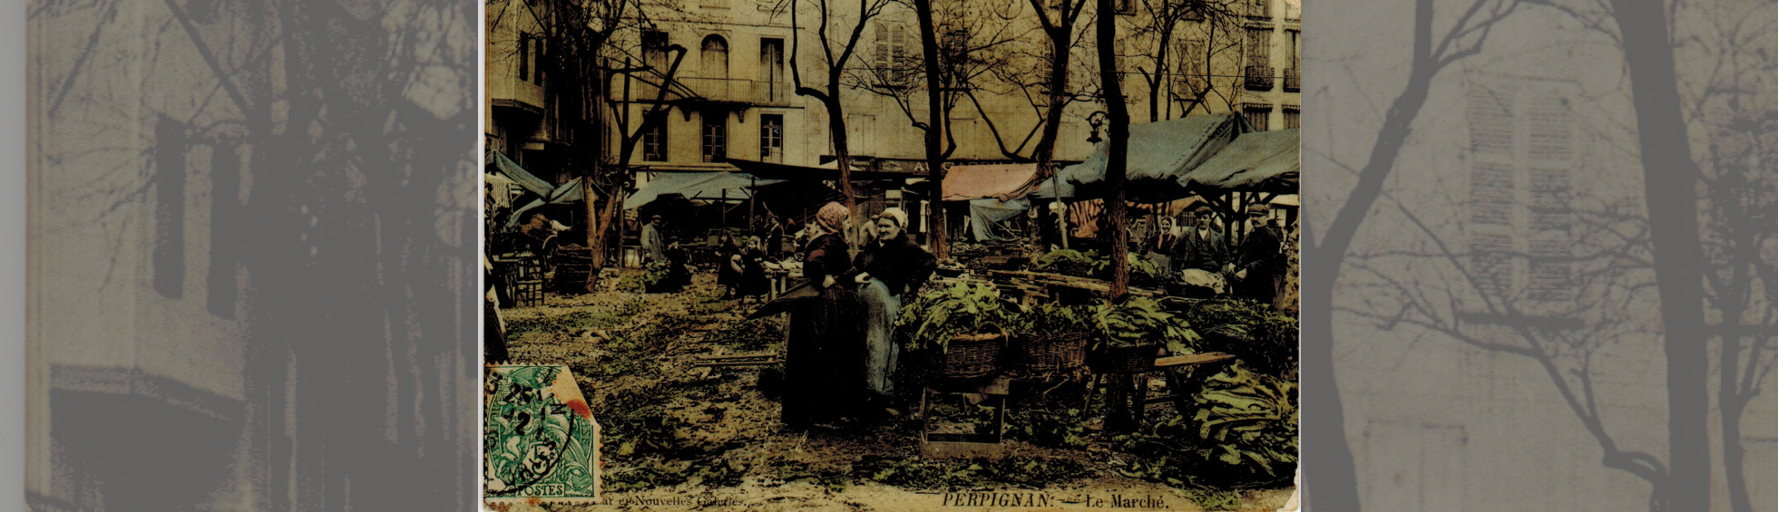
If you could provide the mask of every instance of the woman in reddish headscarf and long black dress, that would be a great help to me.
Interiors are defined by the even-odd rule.
[[[816,297],[804,300],[789,316],[784,343],[784,425],[807,428],[846,416],[862,379],[864,313],[852,284],[852,245],[846,244],[850,213],[839,203],[827,203],[814,213],[814,240],[804,247],[802,276]],[[848,372],[850,370],[850,372]]]

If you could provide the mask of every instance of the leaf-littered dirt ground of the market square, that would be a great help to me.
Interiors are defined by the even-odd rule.
[[[1006,441],[997,460],[921,460],[912,414],[786,430],[759,386],[761,366],[697,366],[697,357],[777,352],[782,315],[743,320],[757,304],[717,300],[708,272],[679,293],[619,292],[619,281],[501,311],[514,364],[565,364],[580,380],[603,428],[605,503],[494,510],[1277,510],[1294,491],[1125,476],[1141,460],[1111,450],[1099,421],[1077,421],[1086,423],[1077,448]],[[951,416],[967,423],[958,407]]]

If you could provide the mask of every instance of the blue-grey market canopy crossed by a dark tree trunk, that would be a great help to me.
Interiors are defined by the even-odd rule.
[[[1252,132],[1252,126],[1236,112],[1129,126],[1125,197],[1161,203],[1191,196],[1193,192],[1186,190],[1179,178],[1246,132]],[[1106,197],[1111,192],[1106,188],[1106,146],[1099,146],[1085,162],[1061,167],[1054,178],[1044,180],[1031,197]]]

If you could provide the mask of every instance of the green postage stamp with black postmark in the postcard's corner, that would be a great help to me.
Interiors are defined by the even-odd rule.
[[[567,366],[489,366],[487,501],[599,501],[599,423]]]

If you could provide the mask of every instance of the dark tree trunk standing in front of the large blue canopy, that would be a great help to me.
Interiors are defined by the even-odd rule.
[[[1111,196],[1106,197],[1106,229],[1111,229],[1111,297],[1129,292],[1129,224],[1127,204],[1124,204],[1124,164],[1129,156],[1129,107],[1124,105],[1124,85],[1118,84],[1117,52],[1109,41],[1117,41],[1117,16],[1111,0],[1099,0],[1099,82],[1106,100],[1106,185]]]

